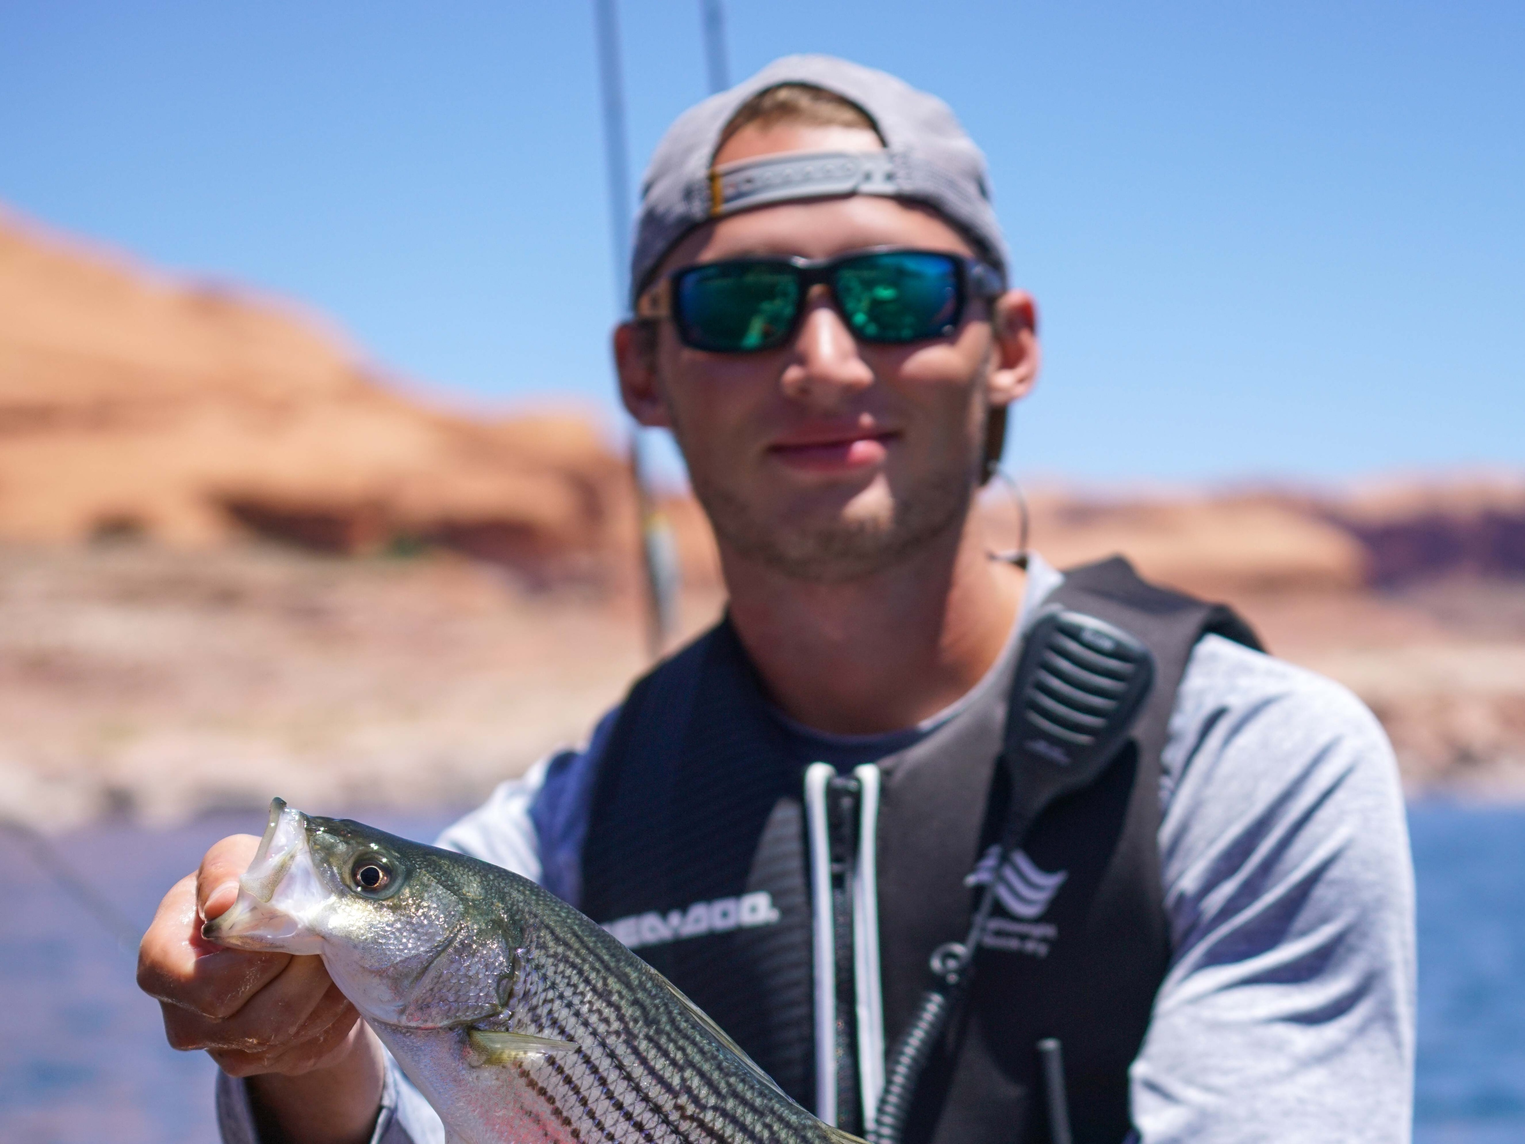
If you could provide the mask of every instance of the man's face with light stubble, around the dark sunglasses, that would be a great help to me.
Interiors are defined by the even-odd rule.
[[[854,128],[744,128],[717,163],[878,146]],[[930,210],[852,195],[723,218],[680,243],[659,275],[729,258],[831,258],[883,246],[973,253]],[[1000,346],[985,302],[965,305],[950,337],[871,345],[852,337],[816,287],[793,340],[778,349],[692,349],[671,322],[645,366],[619,339],[616,349],[627,406],[674,432],[726,555],[810,581],[871,575],[956,529],[978,485],[988,404],[1016,395],[1010,371],[996,368]]]

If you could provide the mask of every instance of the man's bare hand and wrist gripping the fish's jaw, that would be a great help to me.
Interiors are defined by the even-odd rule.
[[[171,888],[139,947],[137,984],[159,999],[177,1049],[206,1049],[224,1072],[252,1077],[261,1118],[294,1144],[369,1139],[381,1094],[381,1049],[334,987],[322,958],[249,952],[201,937],[238,895],[259,839],[215,844]]]

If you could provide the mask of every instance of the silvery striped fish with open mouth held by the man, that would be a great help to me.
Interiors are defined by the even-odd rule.
[[[862,1144],[596,921],[465,854],[278,798],[203,935],[322,956],[447,1144]]]

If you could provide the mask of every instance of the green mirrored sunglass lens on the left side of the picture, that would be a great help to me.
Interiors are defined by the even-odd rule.
[[[770,349],[795,325],[799,278],[778,262],[702,265],[677,279],[674,302],[691,346],[726,354]]]

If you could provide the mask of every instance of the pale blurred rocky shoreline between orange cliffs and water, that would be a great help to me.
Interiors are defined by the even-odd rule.
[[[1411,802],[1525,804],[1525,581],[1218,595],[1374,709]],[[0,816],[476,805],[619,702],[639,618],[448,555],[0,545]]]

